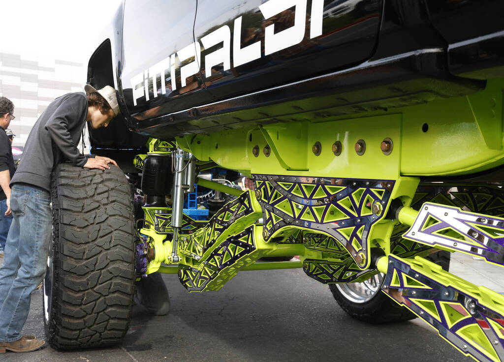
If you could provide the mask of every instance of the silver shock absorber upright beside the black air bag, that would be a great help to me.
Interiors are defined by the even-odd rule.
[[[191,153],[178,149],[174,152],[174,173],[172,191],[171,226],[173,228],[173,250],[171,260],[178,263],[177,246],[178,233],[182,227],[182,211],[184,202],[184,192],[190,188],[190,184],[195,179],[195,163]],[[194,187],[194,185],[193,185]]]

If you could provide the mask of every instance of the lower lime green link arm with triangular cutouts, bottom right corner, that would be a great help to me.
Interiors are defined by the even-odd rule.
[[[480,361],[504,359],[504,296],[421,257],[389,255],[378,264],[387,272],[383,292],[462,353]]]

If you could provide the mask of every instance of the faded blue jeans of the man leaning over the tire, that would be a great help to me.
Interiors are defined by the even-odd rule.
[[[0,342],[21,338],[30,311],[31,292],[42,281],[52,238],[48,191],[15,184],[11,191],[13,221],[0,268]]]

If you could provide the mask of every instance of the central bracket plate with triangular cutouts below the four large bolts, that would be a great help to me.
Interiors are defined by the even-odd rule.
[[[352,256],[367,255],[367,235],[384,212],[374,215],[373,203],[385,210],[392,180],[336,179],[253,175],[256,198],[263,209],[264,239],[278,230],[298,227],[324,232]]]

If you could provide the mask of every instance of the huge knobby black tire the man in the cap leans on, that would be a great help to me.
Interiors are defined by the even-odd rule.
[[[121,170],[60,164],[52,175],[53,245],[44,279],[46,338],[57,349],[120,342],[132,314],[132,198]]]

